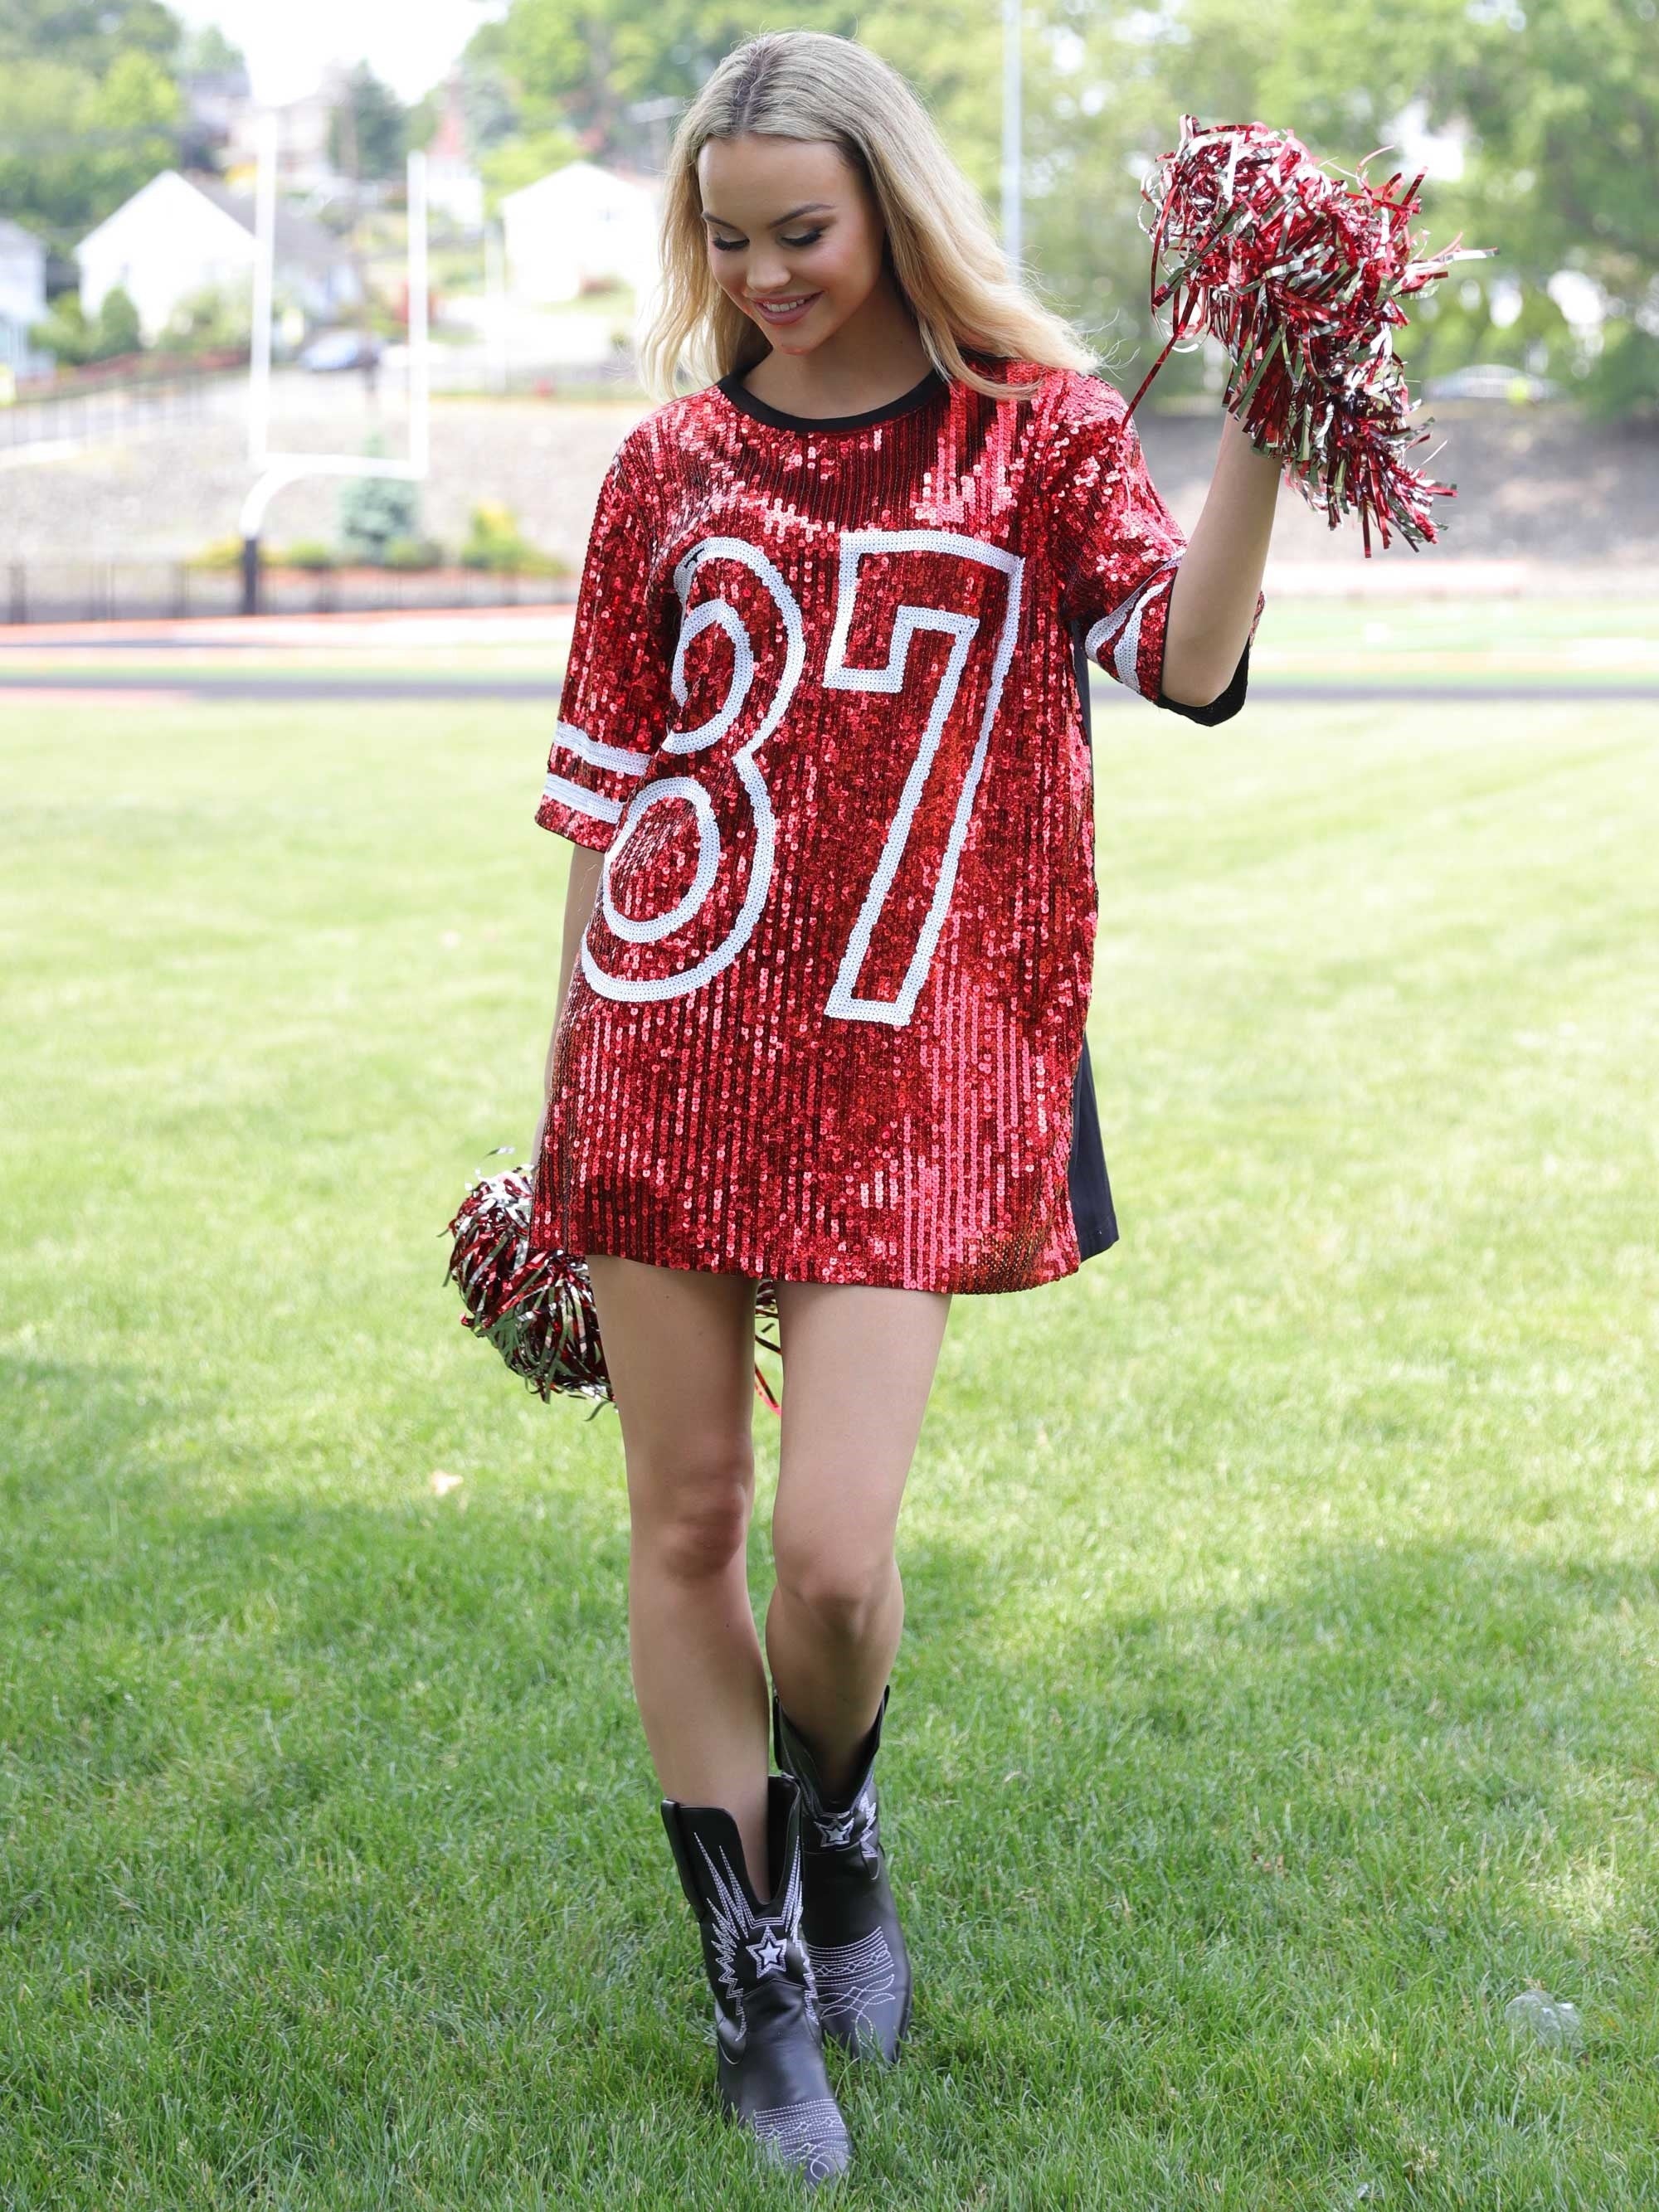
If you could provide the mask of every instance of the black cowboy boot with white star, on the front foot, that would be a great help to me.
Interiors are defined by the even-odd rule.
[[[737,1820],[721,1805],[661,1801],[661,1818],[714,1991],[719,2095],[726,2110],[810,2183],[852,2161],[847,2124],[823,2070],[823,2024],[801,1940],[801,1792],[768,1778],[768,1854],[776,1871],[761,1905]]]

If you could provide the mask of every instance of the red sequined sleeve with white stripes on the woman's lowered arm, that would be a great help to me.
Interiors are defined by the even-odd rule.
[[[628,469],[613,456],[593,511],[560,686],[542,830],[604,852],[650,754],[675,726],[672,639],[650,586],[650,522]]]

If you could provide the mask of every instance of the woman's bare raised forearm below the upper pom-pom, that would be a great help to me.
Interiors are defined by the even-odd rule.
[[[1210,706],[1232,681],[1250,639],[1267,566],[1283,460],[1259,453],[1228,416],[1210,491],[1170,586],[1164,692]]]

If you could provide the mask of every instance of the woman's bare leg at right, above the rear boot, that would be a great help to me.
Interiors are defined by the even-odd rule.
[[[905,1626],[894,1535],[949,1312],[949,1292],[779,1283],[779,1579],[765,1655],[830,1794],[852,1781]]]

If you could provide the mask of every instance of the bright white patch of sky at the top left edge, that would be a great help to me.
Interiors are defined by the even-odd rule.
[[[471,33],[500,13],[493,0],[173,0],[186,22],[217,22],[248,55],[259,100],[307,93],[327,62],[367,62],[418,100]]]

